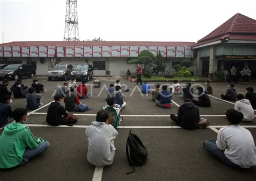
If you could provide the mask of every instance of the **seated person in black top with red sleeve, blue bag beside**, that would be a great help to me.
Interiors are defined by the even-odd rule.
[[[65,109],[68,112],[76,111],[77,105],[80,105],[80,101],[78,96],[74,93],[75,88],[70,87],[70,92],[66,94],[64,102],[65,102]]]

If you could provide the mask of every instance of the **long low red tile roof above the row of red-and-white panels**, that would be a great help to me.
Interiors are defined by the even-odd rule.
[[[180,46],[194,42],[180,41],[13,41],[0,46]]]

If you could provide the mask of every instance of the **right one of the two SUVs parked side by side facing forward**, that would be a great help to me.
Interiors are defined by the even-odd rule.
[[[90,64],[78,64],[71,72],[71,76],[75,77],[76,80],[87,79],[89,81],[93,78],[93,67]]]

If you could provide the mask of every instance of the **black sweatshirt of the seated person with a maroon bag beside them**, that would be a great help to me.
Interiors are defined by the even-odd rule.
[[[60,103],[52,102],[47,110],[46,122],[52,126],[58,126],[62,124],[62,115],[66,117],[69,114]]]

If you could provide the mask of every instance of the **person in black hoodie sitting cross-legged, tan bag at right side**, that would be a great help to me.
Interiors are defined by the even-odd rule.
[[[184,104],[178,109],[178,115],[171,114],[171,120],[176,122],[178,126],[184,129],[198,128],[200,120],[199,109],[195,106],[191,99],[186,98]]]

